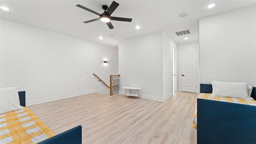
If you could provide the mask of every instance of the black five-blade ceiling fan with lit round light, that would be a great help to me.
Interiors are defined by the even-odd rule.
[[[86,23],[86,24],[89,23],[89,22],[94,22],[96,20],[100,20],[102,22],[106,22],[108,27],[110,29],[112,29],[112,28],[114,28],[114,26],[111,24],[110,20],[118,20],[118,21],[123,21],[123,22],[132,22],[132,18],[119,18],[119,17],[110,16],[114,12],[114,10],[116,10],[116,8],[119,6],[119,4],[115,1],[113,1],[112,4],[109,7],[106,6],[106,5],[103,5],[102,9],[104,10],[104,12],[102,14],[99,14],[98,12],[95,12],[93,10],[90,10],[89,8],[81,6],[80,4],[78,4],[76,6],[100,16],[100,18],[95,18],[93,20],[85,21],[84,23]]]

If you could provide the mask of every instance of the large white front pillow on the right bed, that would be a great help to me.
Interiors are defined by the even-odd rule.
[[[245,82],[212,81],[212,96],[253,99],[248,95],[250,87]]]

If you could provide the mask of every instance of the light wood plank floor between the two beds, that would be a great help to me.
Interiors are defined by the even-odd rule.
[[[81,125],[83,144],[195,144],[196,96],[176,92],[158,102],[93,93],[28,108],[55,134]]]

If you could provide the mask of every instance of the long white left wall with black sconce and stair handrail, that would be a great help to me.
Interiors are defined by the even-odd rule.
[[[92,73],[109,83],[109,75],[118,72],[117,48],[4,19],[0,28],[0,87],[25,90],[26,104],[91,92],[109,95]]]

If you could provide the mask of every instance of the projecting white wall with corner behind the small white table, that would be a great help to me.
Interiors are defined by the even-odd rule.
[[[142,98],[160,101],[168,98],[172,94],[171,48],[171,39],[164,32],[121,40],[119,42],[121,87],[142,88],[140,90]],[[121,92],[124,93],[123,88]]]

